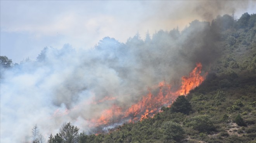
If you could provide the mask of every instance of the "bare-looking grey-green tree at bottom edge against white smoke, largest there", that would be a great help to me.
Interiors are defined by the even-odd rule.
[[[79,137],[79,128],[74,127],[71,123],[64,123],[59,131],[64,143],[77,143]]]

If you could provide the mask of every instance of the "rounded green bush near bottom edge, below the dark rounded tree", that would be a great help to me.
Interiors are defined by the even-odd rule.
[[[180,124],[174,123],[172,121],[167,121],[161,126],[163,131],[163,138],[170,141],[180,141],[185,138],[185,131]]]

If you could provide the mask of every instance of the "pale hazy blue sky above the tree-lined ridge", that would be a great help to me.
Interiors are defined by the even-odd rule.
[[[205,6],[209,3],[212,7]],[[182,30],[194,19],[253,14],[255,3],[229,1],[216,8],[214,1],[1,0],[0,55],[20,63],[35,60],[44,47],[60,49],[69,43],[75,49],[90,49],[106,36],[125,43],[137,32],[143,39],[147,31],[152,36],[161,29]],[[205,14],[205,9],[214,14]]]

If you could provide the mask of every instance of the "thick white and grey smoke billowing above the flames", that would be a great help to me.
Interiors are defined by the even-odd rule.
[[[181,10],[204,20],[232,12],[236,6],[233,1],[189,3]],[[173,17],[168,11],[164,14]],[[195,20],[182,32],[158,31],[150,41],[136,34],[126,43],[105,37],[88,50],[75,50],[69,44],[45,48],[36,60],[1,69],[0,142],[28,142],[35,124],[45,138],[68,121],[89,133],[91,120],[104,109],[117,105],[124,111],[148,88],[188,75],[197,62],[206,72],[220,56],[217,34],[209,22]]]

